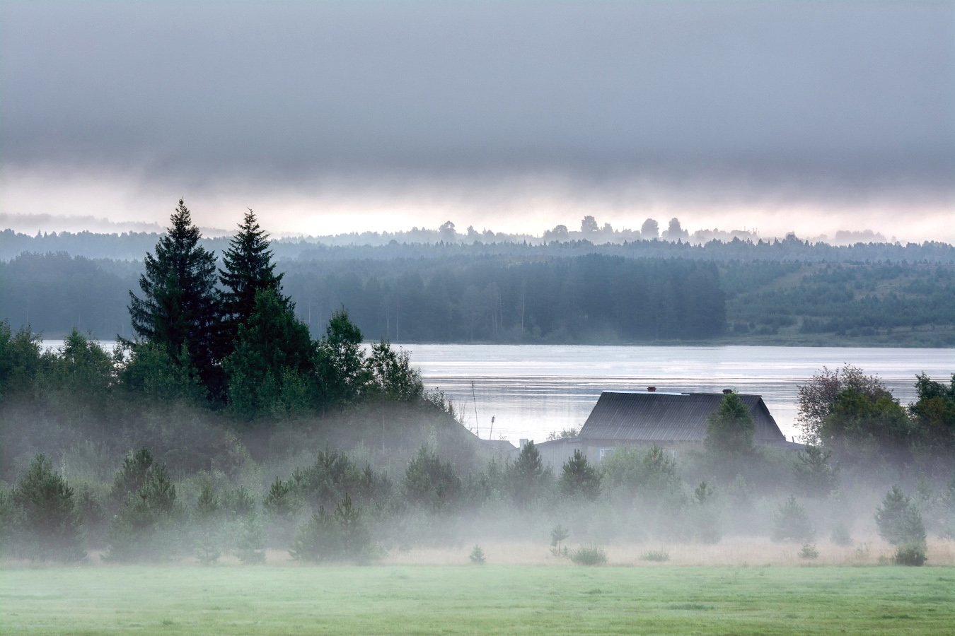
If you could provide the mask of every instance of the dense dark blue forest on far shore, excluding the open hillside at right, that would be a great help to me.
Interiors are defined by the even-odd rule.
[[[603,342],[711,339],[725,299],[711,263],[608,256],[284,261],[286,293],[313,333],[345,306],[369,339]],[[130,336],[138,267],[65,254],[0,263],[0,316],[48,336],[76,326]]]

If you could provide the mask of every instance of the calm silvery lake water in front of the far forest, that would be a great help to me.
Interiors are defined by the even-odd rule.
[[[62,340],[44,345],[58,347]],[[601,391],[647,386],[661,391],[732,388],[761,395],[783,433],[792,437],[798,435],[793,423],[796,389],[823,366],[848,363],[878,375],[902,404],[915,399],[916,374],[947,382],[955,372],[955,349],[400,346],[411,352],[425,387],[438,388],[453,400],[466,426],[484,439],[515,443],[520,438],[543,441],[550,431],[581,426]]]

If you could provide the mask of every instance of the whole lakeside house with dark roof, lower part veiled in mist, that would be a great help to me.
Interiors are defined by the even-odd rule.
[[[711,414],[723,393],[657,391],[605,391],[576,438],[544,441],[537,445],[541,460],[559,468],[576,449],[591,462],[599,462],[618,446],[680,449],[702,448]],[[797,450],[802,444],[786,441],[761,396],[739,395],[753,416],[756,445]]]

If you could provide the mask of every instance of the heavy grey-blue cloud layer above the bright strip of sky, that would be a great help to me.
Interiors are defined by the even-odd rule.
[[[2,7],[7,166],[952,190],[951,2]]]

